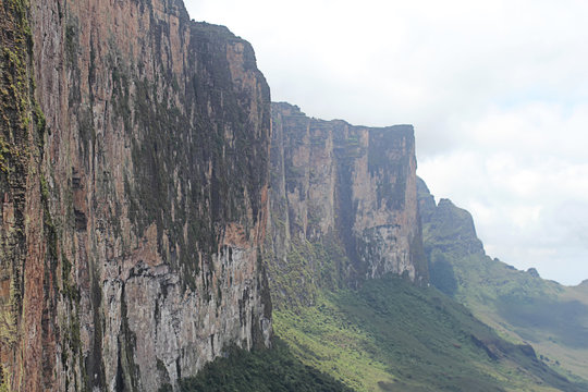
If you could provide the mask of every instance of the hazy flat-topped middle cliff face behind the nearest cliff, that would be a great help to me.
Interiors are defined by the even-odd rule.
[[[388,272],[427,281],[413,127],[353,126],[272,103],[268,220],[278,303]],[[304,289],[301,289],[304,287]]]

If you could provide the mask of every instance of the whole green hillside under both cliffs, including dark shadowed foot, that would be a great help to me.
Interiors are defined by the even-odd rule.
[[[397,278],[274,313],[272,350],[231,348],[181,391],[586,391],[434,287]]]

